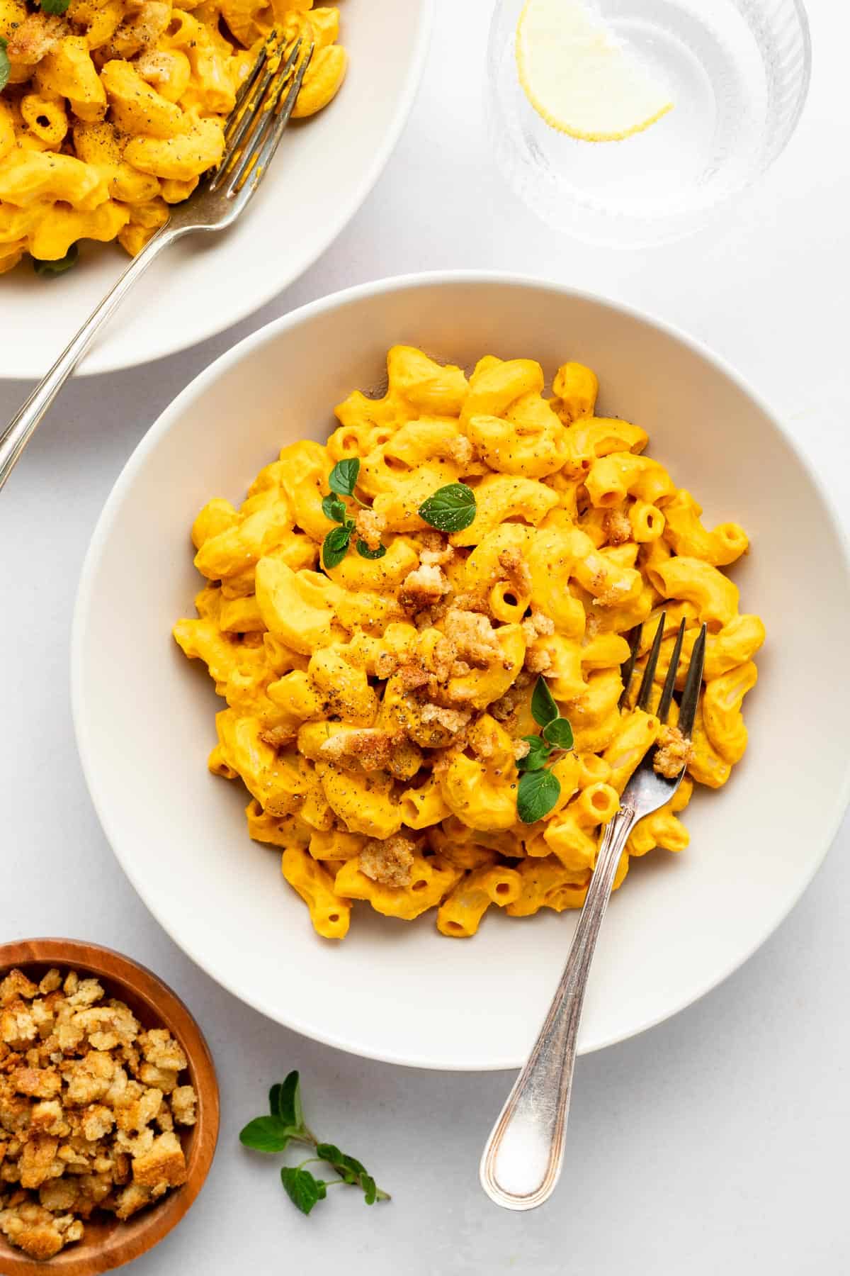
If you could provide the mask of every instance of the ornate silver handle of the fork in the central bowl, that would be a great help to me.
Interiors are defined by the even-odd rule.
[[[635,812],[621,806],[605,828],[549,1013],[484,1147],[482,1187],[491,1201],[506,1210],[534,1210],[543,1205],[561,1175],[587,975],[617,865],[633,824]]]

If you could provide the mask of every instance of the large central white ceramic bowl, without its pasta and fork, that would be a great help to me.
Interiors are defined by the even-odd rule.
[[[357,910],[339,946],[312,933],[279,855],[249,841],[240,786],[210,776],[217,701],[169,637],[199,578],[189,527],[238,501],[282,444],[324,439],[353,387],[377,387],[394,342],[472,364],[484,352],[590,364],[601,410],[638,421],[651,453],[711,521],[740,519],[734,569],[768,642],[747,702],[749,752],[687,812],[691,849],[633,864],[609,910],[580,1049],[659,1022],[729,975],[819,865],[847,800],[847,551],[784,427],[714,356],[595,297],[503,276],[385,281],[279,319],[199,376],[139,444],[83,572],[73,695],[83,767],[134,886],[173,939],[237,997],[331,1045],[432,1068],[520,1064],[575,925],[487,916],[451,940],[433,917]]]

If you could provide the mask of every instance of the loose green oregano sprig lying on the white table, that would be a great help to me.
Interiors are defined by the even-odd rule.
[[[390,1197],[377,1187],[366,1166],[353,1156],[340,1152],[335,1143],[320,1143],[305,1122],[301,1105],[301,1086],[298,1073],[291,1072],[285,1081],[271,1086],[269,1091],[269,1115],[255,1116],[245,1129],[240,1131],[240,1142],[255,1152],[283,1152],[289,1143],[302,1143],[312,1148],[315,1156],[308,1156],[299,1165],[284,1165],[280,1169],[280,1182],[287,1196],[302,1213],[310,1213],[317,1201],[324,1201],[328,1188],[339,1183],[357,1187],[363,1193],[366,1205],[376,1201],[389,1201]],[[339,1175],[335,1179],[319,1179],[307,1165],[325,1162]]]

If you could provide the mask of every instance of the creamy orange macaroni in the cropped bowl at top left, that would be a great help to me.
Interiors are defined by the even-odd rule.
[[[223,153],[263,41],[315,45],[293,116],[345,75],[339,10],[312,0],[70,0],[48,15],[0,0],[0,273],[80,239],[138,253]]]

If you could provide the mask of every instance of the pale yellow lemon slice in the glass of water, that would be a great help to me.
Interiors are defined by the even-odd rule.
[[[619,142],[673,106],[582,0],[526,0],[516,61],[534,110],[584,142]]]

